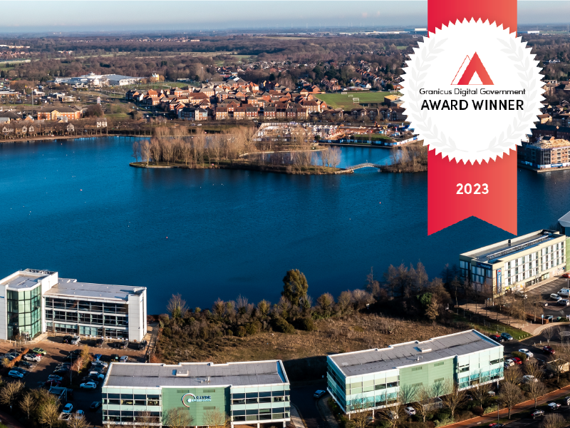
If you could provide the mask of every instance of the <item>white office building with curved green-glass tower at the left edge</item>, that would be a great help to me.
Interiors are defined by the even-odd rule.
[[[42,332],[142,340],[147,332],[145,287],[90,284],[58,272],[26,269],[0,280],[0,339]]]

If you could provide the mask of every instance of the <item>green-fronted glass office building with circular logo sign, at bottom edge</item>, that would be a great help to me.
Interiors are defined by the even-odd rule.
[[[285,427],[291,419],[289,379],[280,360],[113,363],[102,388],[103,424],[162,427],[176,412],[192,427],[230,424]],[[182,424],[180,424],[182,425]]]

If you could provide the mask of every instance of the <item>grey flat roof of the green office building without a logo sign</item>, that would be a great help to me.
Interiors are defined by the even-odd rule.
[[[497,342],[477,332],[467,330],[452,335],[434,337],[420,342],[405,342],[384,349],[346,352],[329,355],[346,377],[384,372],[408,365],[424,364],[443,358],[501,347]],[[419,360],[418,360],[419,358]]]

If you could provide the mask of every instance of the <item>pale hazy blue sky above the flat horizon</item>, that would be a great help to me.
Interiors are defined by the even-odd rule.
[[[570,0],[519,0],[518,5],[519,25],[570,24]],[[427,25],[425,0],[19,0],[3,2],[1,11],[11,18],[2,20],[0,34]]]

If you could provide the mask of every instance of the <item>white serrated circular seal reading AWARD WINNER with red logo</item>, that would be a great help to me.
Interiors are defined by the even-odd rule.
[[[450,161],[489,161],[516,149],[540,114],[539,61],[489,21],[436,29],[404,68],[405,114],[424,145]]]

